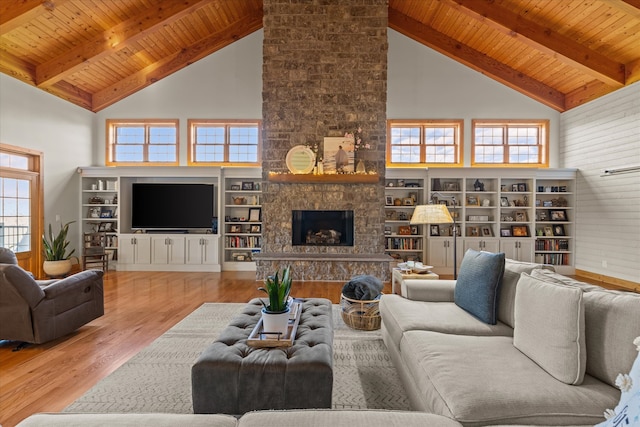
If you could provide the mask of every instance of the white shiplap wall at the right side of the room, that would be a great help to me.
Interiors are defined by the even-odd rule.
[[[578,168],[576,269],[640,282],[640,82],[561,115],[560,158]]]

